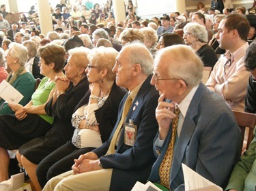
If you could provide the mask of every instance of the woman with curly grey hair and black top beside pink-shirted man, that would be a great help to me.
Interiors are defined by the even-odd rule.
[[[186,45],[195,50],[205,67],[214,67],[218,58],[216,52],[207,44],[208,37],[205,27],[193,22],[186,24],[183,39]]]

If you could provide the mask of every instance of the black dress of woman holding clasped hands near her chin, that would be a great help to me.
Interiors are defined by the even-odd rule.
[[[48,101],[44,109],[46,114],[54,117],[51,128],[46,135],[22,145],[18,152],[33,164],[39,164],[48,154],[70,140],[74,132],[71,124],[74,107],[83,98],[88,88],[89,82],[87,77],[84,77],[76,86],[71,85],[66,90],[66,94],[61,94],[54,105],[52,105],[53,99]]]

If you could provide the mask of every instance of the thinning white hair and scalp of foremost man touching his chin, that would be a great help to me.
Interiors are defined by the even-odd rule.
[[[203,62],[190,46],[173,45],[162,48],[156,55],[156,62],[163,56],[168,57],[165,62],[169,77],[178,78],[186,82],[188,88],[197,86],[203,77]]]

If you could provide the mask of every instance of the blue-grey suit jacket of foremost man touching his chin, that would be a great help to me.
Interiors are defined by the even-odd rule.
[[[170,139],[171,130],[162,147],[154,147],[156,156],[160,155],[152,167],[150,181],[160,180],[158,171]],[[200,84],[175,143],[170,172],[171,190],[184,190],[182,163],[225,188],[240,154],[241,134],[233,112],[216,93]]]

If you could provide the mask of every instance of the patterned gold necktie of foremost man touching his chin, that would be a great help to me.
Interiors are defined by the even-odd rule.
[[[167,152],[165,154],[164,159],[162,160],[162,163],[160,164],[159,169],[159,176],[162,186],[165,186],[169,189],[170,187],[170,171],[171,171],[171,163],[173,162],[173,149],[175,145],[175,139],[176,139],[176,133],[177,133],[177,123],[179,122],[179,114],[180,109],[179,107],[175,107],[174,114],[176,115],[175,118],[173,118],[173,124],[171,129],[171,141],[168,145]]]

